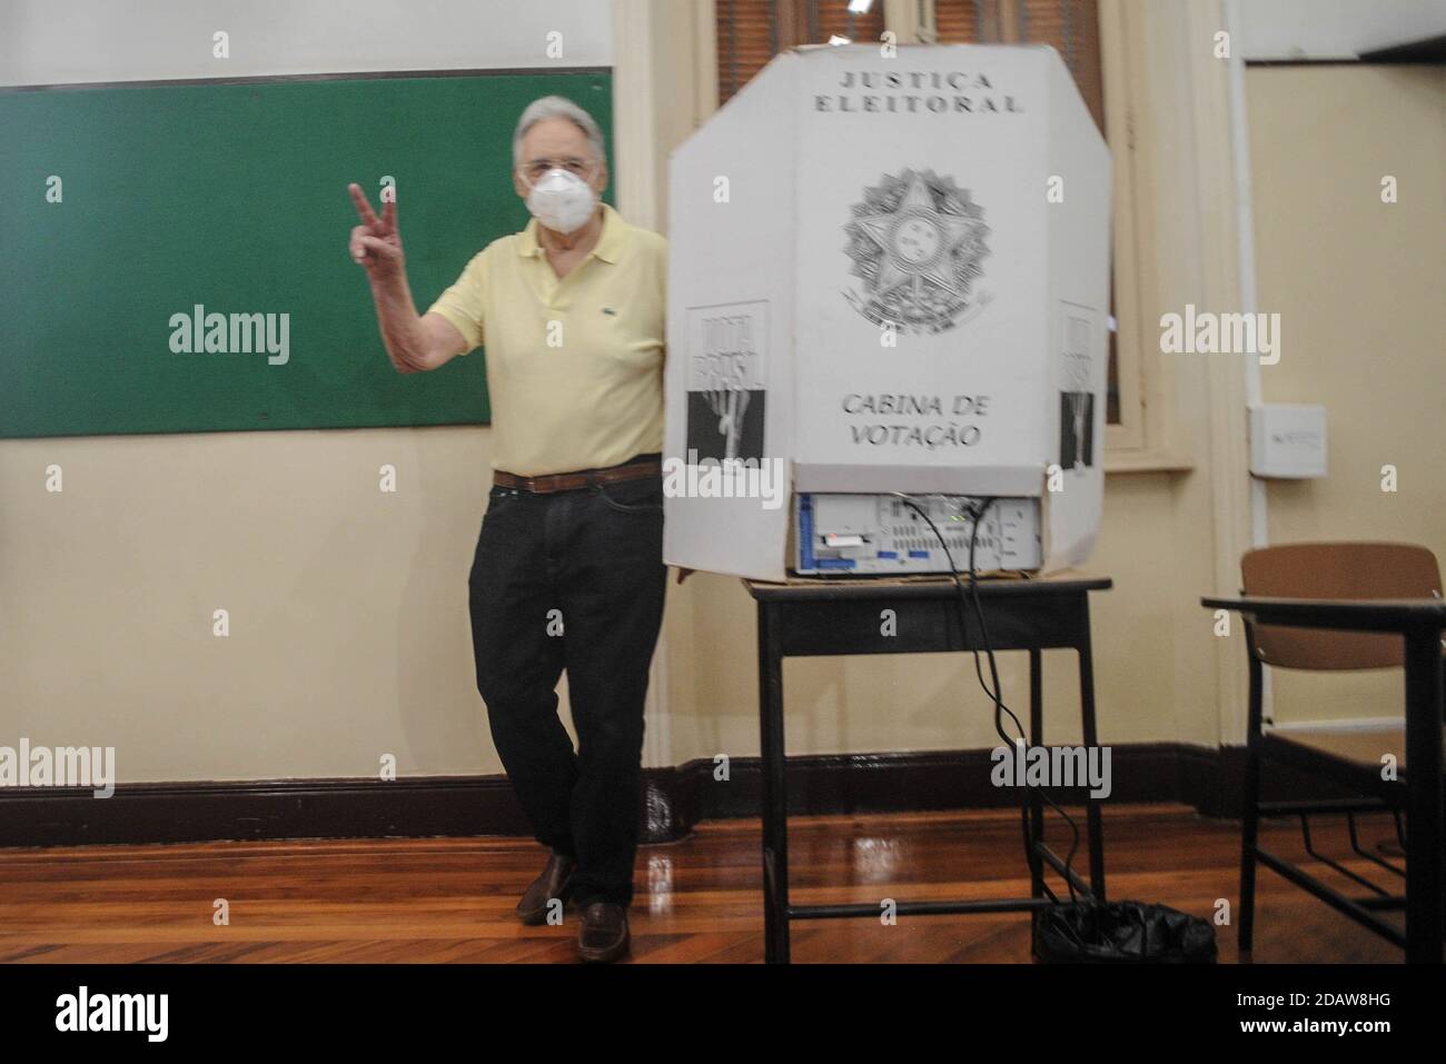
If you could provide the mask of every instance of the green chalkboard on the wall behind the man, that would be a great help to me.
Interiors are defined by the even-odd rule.
[[[0,93],[0,437],[489,421],[482,353],[388,361],[347,184],[395,179],[425,311],[526,223],[512,133],[551,93],[610,129],[606,71]],[[197,305],[253,351],[172,350]]]

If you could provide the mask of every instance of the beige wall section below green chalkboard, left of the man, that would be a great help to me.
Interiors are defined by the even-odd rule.
[[[489,434],[6,441],[0,745],[114,746],[121,782],[500,771],[466,593]]]

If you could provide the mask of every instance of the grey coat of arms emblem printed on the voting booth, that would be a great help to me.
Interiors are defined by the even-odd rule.
[[[989,254],[983,208],[953,178],[933,171],[885,173],[863,189],[843,227],[850,273],[862,292],[846,298],[876,325],[943,332],[976,302],[972,288]]]

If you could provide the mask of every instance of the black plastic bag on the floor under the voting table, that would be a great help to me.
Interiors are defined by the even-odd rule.
[[[1034,918],[1045,964],[1215,964],[1215,927],[1168,905],[1071,902]]]

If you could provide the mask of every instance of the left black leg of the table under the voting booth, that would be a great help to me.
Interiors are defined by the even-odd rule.
[[[788,963],[788,786],[777,607],[758,604],[758,732],[763,768],[763,960]]]

